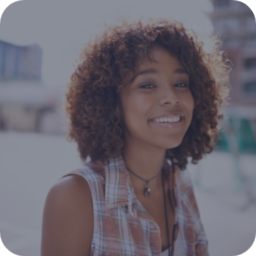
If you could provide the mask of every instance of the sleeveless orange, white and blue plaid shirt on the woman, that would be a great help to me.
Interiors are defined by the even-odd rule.
[[[208,256],[207,240],[187,170],[175,167],[177,222],[186,256]],[[164,170],[172,189],[172,167]],[[138,201],[123,157],[113,158],[109,165],[85,162],[70,174],[87,180],[94,208],[94,233],[91,256],[160,256],[160,228]]]

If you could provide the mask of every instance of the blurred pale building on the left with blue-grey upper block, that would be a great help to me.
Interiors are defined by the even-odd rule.
[[[39,45],[0,40],[0,130],[65,133],[64,91],[45,86],[42,57]]]

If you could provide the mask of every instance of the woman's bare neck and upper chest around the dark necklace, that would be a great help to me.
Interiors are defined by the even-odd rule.
[[[164,160],[165,150],[142,150],[141,148],[134,148],[131,150],[128,147],[123,152],[123,160],[126,167],[138,175],[138,177],[150,182],[150,197],[151,194],[157,195],[162,192],[162,174],[160,173]],[[159,174],[160,173],[160,174]],[[157,176],[157,174],[159,174]],[[146,182],[136,177],[129,172],[130,181],[133,184],[135,194],[144,197],[144,189]],[[157,176],[157,177],[156,177]],[[155,178],[156,177],[156,178]],[[155,178],[155,179],[153,179]]]

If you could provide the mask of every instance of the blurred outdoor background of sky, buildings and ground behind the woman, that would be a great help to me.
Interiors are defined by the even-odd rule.
[[[240,255],[256,231],[256,23],[234,0],[16,1],[0,24],[0,233],[6,250],[40,255],[50,187],[81,164],[68,143],[66,84],[83,43],[118,17],[174,18],[220,33],[234,66],[220,140],[188,165],[211,256]]]

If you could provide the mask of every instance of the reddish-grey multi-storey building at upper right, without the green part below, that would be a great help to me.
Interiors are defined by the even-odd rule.
[[[211,0],[213,13],[207,13],[223,38],[224,50],[233,62],[230,105],[256,107],[256,21],[247,4],[235,0]]]

